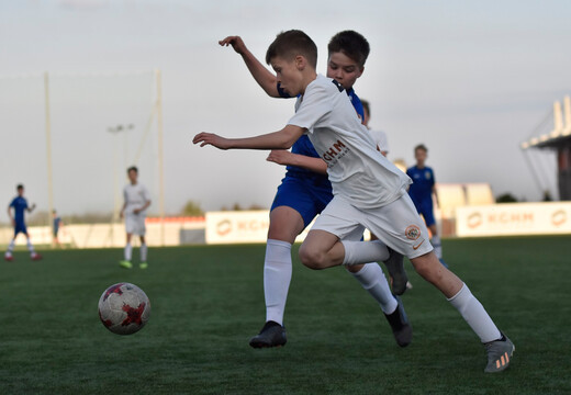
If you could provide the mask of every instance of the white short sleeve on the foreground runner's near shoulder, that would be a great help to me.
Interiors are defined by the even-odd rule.
[[[327,92],[325,87],[315,86],[306,90],[303,98],[298,100],[302,100],[301,104],[288,124],[313,133],[313,128],[332,111],[331,92]]]

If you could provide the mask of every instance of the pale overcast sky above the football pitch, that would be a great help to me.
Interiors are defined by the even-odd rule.
[[[189,200],[205,211],[269,207],[284,169],[266,151],[198,148],[191,139],[286,125],[294,102],[267,97],[217,41],[240,35],[264,59],[290,29],[315,41],[323,74],[335,33],[367,37],[371,54],[355,90],[371,103],[370,125],[387,132],[391,159],[411,166],[424,143],[438,182],[488,182],[494,195],[536,201],[541,185],[556,192],[555,159],[534,154],[538,185],[519,144],[571,94],[570,14],[563,0],[0,0],[0,201],[23,182],[29,200],[47,207],[47,71],[58,211],[111,211],[139,146],[141,180],[156,202],[158,140],[155,126],[145,131],[160,69],[166,212]],[[108,133],[119,124],[133,129]]]

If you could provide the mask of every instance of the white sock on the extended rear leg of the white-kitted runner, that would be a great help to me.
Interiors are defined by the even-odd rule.
[[[468,285],[463,284],[462,289],[448,302],[460,312],[482,342],[490,342],[502,337],[500,329],[490,318],[482,304],[472,295]]]

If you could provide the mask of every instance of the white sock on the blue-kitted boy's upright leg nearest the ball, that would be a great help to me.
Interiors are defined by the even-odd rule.
[[[291,281],[291,244],[268,239],[264,261],[266,321],[283,325],[283,312]]]

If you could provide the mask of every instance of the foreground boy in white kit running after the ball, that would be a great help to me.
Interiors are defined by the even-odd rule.
[[[286,127],[249,138],[200,133],[193,143],[221,149],[287,149],[307,133],[327,162],[334,198],[302,244],[301,261],[312,269],[325,269],[379,260],[387,253],[387,246],[398,250],[411,259],[419,275],[443,292],[480,337],[488,352],[484,371],[505,370],[514,345],[497,329],[468,286],[440,264],[426,226],[406,194],[411,179],[377,151],[343,87],[317,76],[316,46],[307,42],[313,44],[301,31],[283,32],[266,55],[282,89],[290,95],[300,95],[295,115]],[[339,241],[362,228],[380,240]]]

